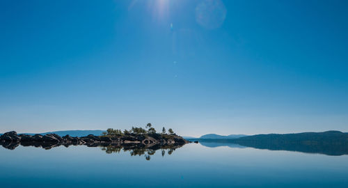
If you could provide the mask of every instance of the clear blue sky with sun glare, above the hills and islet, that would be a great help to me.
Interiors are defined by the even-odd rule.
[[[0,132],[348,132],[348,1],[0,1]]]

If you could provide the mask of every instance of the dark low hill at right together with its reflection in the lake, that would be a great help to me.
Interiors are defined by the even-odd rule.
[[[299,134],[258,134],[239,139],[190,139],[200,141],[203,146],[241,146],[267,149],[288,150],[324,155],[348,155],[348,134],[338,131],[303,132]],[[209,141],[208,141],[209,140]],[[215,142],[213,144],[213,142]],[[232,145],[231,145],[232,146]]]

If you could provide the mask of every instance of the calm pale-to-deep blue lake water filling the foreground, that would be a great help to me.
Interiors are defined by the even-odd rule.
[[[86,146],[1,147],[0,187],[348,187],[348,156],[190,143],[147,161]]]

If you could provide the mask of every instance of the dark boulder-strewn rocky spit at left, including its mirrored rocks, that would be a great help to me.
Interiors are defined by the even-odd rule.
[[[120,136],[88,136],[72,137],[69,135],[59,136],[58,134],[17,134],[17,132],[6,132],[0,136],[0,145],[13,150],[17,146],[35,146],[45,149],[56,146],[114,146],[127,148],[164,148],[183,146],[189,141],[176,134],[123,134]]]

